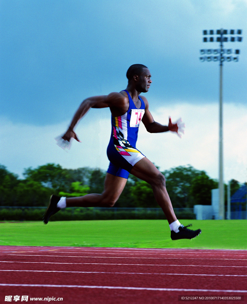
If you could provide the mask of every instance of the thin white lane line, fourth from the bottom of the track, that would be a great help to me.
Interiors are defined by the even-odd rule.
[[[32,256],[32,257],[88,257],[83,255],[51,255],[51,254],[9,254],[17,256]],[[107,258],[107,259],[177,259],[177,260],[234,260],[234,261],[245,261],[247,259],[228,259],[228,258],[210,258],[210,257],[96,257],[91,258]]]

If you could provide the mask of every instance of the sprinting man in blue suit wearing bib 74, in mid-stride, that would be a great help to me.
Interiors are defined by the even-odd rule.
[[[86,98],[76,111],[71,124],[62,139],[69,143],[72,138],[79,141],[74,128],[78,121],[90,108],[105,108],[111,110],[111,138],[107,148],[110,161],[104,181],[104,191],[101,194],[87,194],[75,198],[59,198],[52,195],[44,214],[47,224],[50,216],[65,207],[112,207],[122,193],[129,173],[146,181],[152,186],[154,197],[162,208],[170,229],[171,239],[192,239],[201,230],[190,230],[178,221],[165,186],[165,177],[139,150],[136,149],[138,127],[142,121],[150,133],[177,132],[178,124],[173,124],[169,118],[168,126],[154,121],[149,111],[147,99],[140,93],[148,92],[151,81],[149,69],[143,64],[133,64],[127,74],[126,90],[109,95]]]

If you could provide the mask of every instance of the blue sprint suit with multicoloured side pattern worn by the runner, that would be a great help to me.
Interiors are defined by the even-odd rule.
[[[145,104],[139,96],[141,107],[137,109],[129,92],[124,91],[129,97],[129,109],[122,116],[111,116],[111,138],[107,148],[110,165],[107,172],[128,178],[133,166],[145,157],[136,149],[137,134],[145,112]]]

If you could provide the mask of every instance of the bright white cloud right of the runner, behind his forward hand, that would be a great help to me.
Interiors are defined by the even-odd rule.
[[[146,150],[151,161],[168,169],[191,164],[204,170],[211,178],[218,178],[219,118],[218,105],[205,106],[176,104],[175,107],[161,107],[153,112],[155,120],[168,123],[168,116],[176,121],[180,116],[185,122],[185,135],[180,140],[175,134],[151,134],[140,132],[140,150]],[[232,178],[247,180],[247,107],[235,104],[224,105],[223,144],[224,180]],[[147,137],[148,136],[148,137]],[[146,138],[146,139],[145,139]],[[147,145],[148,143],[148,145]]]

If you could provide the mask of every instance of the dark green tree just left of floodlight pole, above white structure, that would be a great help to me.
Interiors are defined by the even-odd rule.
[[[217,181],[206,174],[197,176],[192,180],[190,193],[195,205],[211,205],[211,190],[218,187]]]

